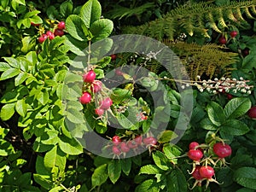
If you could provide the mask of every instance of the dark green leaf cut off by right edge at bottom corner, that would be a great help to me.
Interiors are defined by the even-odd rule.
[[[236,183],[248,189],[256,190],[256,168],[241,167],[234,173]]]

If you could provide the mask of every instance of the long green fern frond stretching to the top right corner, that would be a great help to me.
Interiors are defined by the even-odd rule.
[[[223,7],[210,3],[187,3],[173,9],[158,20],[148,22],[142,28],[127,26],[123,28],[123,32],[143,34],[158,40],[166,37],[174,39],[179,35],[175,32],[187,32],[190,36],[193,36],[195,32],[201,32],[208,37],[206,26],[216,32],[221,32],[227,27],[227,21],[233,21],[233,25],[241,26],[241,21],[246,23],[242,13],[253,19],[253,15],[256,15],[255,6],[255,0],[232,2]]]

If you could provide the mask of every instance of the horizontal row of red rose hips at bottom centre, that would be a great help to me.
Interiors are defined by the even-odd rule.
[[[111,145],[113,155],[119,157],[121,154],[125,156],[131,149],[136,153],[138,148],[148,148],[150,150],[152,147],[157,147],[157,140],[152,136],[143,137],[142,135],[137,135],[130,140],[122,140],[119,136],[113,136]]]

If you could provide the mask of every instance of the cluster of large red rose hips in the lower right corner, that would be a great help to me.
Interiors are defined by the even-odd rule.
[[[189,152],[187,156],[190,160],[193,160],[193,170],[191,172],[192,177],[195,178],[194,186],[201,186],[203,181],[207,181],[207,185],[210,182],[218,183],[214,178],[215,174],[214,168],[220,162],[220,166],[225,165],[224,158],[230,156],[232,149],[229,144],[224,142],[214,143],[213,147],[207,144],[199,144],[192,142],[189,144]],[[212,164],[212,166],[209,166]]]

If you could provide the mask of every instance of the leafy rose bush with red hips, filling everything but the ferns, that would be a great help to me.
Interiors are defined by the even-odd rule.
[[[256,190],[253,24],[211,34],[232,73],[188,81],[142,70],[152,48],[113,53],[96,0],[0,10],[0,191]]]

